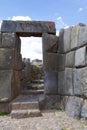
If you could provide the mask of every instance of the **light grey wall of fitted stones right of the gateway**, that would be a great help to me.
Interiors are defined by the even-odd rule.
[[[87,117],[87,26],[60,30],[59,53],[65,54],[66,60],[65,70],[58,72],[58,94],[68,96],[68,114]]]

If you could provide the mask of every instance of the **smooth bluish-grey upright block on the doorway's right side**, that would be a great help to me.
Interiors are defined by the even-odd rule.
[[[44,72],[44,91],[45,94],[57,94],[58,93],[58,72]]]

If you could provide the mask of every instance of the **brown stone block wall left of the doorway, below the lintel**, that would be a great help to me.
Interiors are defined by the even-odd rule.
[[[0,32],[0,102],[17,96],[21,87],[21,41],[15,33]]]

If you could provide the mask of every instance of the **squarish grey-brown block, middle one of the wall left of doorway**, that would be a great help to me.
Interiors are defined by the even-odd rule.
[[[0,48],[0,70],[13,66],[14,49]]]

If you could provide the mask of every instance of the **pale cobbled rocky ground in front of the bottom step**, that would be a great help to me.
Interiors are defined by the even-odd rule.
[[[73,119],[65,112],[42,111],[41,117],[11,119],[0,116],[0,130],[87,130],[87,120]]]

